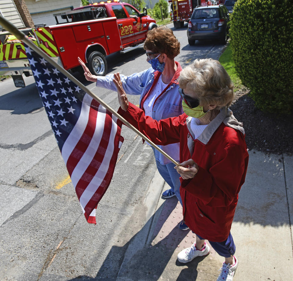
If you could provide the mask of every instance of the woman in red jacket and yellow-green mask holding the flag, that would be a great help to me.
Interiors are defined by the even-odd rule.
[[[178,82],[185,113],[156,121],[128,103],[119,73],[115,74],[118,113],[155,144],[180,142],[181,163],[175,169],[181,175],[183,217],[197,237],[177,259],[186,263],[208,255],[207,239],[225,257],[217,281],[232,281],[238,260],[230,229],[248,165],[243,125],[228,109],[233,84],[213,59],[196,59],[183,69]]]

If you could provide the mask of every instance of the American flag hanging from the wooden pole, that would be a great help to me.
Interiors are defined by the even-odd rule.
[[[123,142],[122,122],[27,46],[26,53],[82,211],[96,224]]]

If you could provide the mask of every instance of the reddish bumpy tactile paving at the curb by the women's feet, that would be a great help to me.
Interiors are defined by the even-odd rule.
[[[166,199],[161,211],[161,215],[154,228],[151,247],[160,248],[165,246],[165,249],[176,250],[179,252],[185,248],[191,247],[195,242],[196,236],[191,230],[179,229],[179,224],[183,219],[182,206],[178,199],[174,196]],[[206,240],[206,243],[208,241]],[[211,248],[209,257],[215,256],[215,250]]]

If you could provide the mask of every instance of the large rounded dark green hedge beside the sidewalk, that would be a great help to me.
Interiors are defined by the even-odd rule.
[[[293,109],[292,7],[289,0],[238,0],[231,15],[235,69],[263,111]]]

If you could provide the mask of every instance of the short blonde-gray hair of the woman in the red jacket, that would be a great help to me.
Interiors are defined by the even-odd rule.
[[[234,85],[230,76],[214,59],[196,59],[180,73],[179,87],[193,91],[199,105],[217,105],[228,107],[234,99]]]

